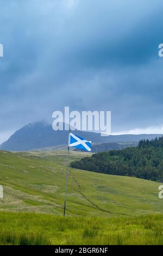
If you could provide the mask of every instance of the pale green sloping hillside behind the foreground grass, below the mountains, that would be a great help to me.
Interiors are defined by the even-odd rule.
[[[71,151],[70,159],[85,153]],[[0,151],[0,210],[62,215],[66,151]],[[70,168],[67,216],[121,217],[163,212],[160,183]]]

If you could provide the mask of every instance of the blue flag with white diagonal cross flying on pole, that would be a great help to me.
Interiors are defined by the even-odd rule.
[[[91,151],[92,143],[91,141],[86,141],[86,139],[70,132],[68,137],[68,146]]]

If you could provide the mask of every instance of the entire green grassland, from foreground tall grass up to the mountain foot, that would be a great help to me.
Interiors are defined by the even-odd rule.
[[[0,151],[0,174],[1,244],[163,244],[160,183],[70,168],[64,218],[66,151]]]

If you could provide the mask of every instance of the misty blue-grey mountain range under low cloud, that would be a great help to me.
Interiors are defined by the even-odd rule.
[[[110,135],[102,137],[100,133],[75,131],[79,136],[92,143],[139,142],[141,139],[152,139],[162,135]],[[11,151],[27,151],[68,143],[68,131],[54,131],[52,125],[44,122],[30,123],[16,131],[0,149]]]

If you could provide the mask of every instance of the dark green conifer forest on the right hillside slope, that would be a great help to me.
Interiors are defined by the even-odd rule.
[[[135,148],[93,154],[72,162],[71,167],[163,182],[163,137],[140,141]]]

